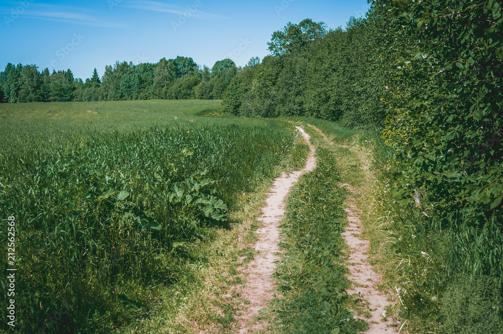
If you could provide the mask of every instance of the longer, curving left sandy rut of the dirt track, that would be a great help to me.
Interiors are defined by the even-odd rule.
[[[278,247],[280,241],[278,225],[285,213],[284,200],[300,175],[312,171],[316,166],[314,147],[309,143],[311,137],[304,132],[304,129],[300,127],[296,128],[302,133],[304,139],[309,144],[311,154],[303,170],[293,172],[289,175],[283,173],[282,176],[278,177],[270,190],[269,197],[266,199],[267,206],[262,209],[263,214],[259,218],[263,222],[264,227],[257,231],[259,241],[255,246],[255,249],[260,254],[255,257],[254,261],[249,263],[247,269],[248,281],[241,292],[250,301],[250,304],[248,305],[247,312],[239,318],[239,333],[247,333],[248,330],[260,330],[264,328],[264,324],[249,324],[249,322],[259,314],[259,310],[269,305],[275,294],[278,295],[271,275],[276,268],[274,262],[280,259],[278,256],[280,252]]]

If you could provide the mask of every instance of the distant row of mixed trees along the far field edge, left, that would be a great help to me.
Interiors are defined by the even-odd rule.
[[[36,65],[7,64],[0,72],[0,102],[113,101],[136,99],[221,99],[241,67],[231,59],[200,68],[192,58],[157,63],[116,62],[100,78],[74,78],[70,69],[38,71]]]

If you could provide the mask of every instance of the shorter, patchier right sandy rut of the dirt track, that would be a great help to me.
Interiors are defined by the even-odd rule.
[[[343,186],[355,193],[355,190],[349,184],[343,184]],[[389,327],[392,324],[391,317],[388,317],[386,321],[382,321],[382,318],[386,315],[384,307],[391,303],[385,293],[374,288],[374,284],[379,283],[381,277],[374,271],[372,265],[367,262],[369,242],[360,239],[362,230],[359,210],[352,202],[351,196],[347,204],[349,207],[345,208],[345,210],[348,212],[349,226],[346,228],[346,232],[341,233],[341,236],[346,240],[351,252],[348,265],[351,274],[348,279],[353,281],[353,289],[346,292],[349,295],[360,294],[360,298],[369,303],[367,307],[371,313],[370,318],[358,315],[355,315],[355,318],[370,321],[370,328],[366,331],[367,334],[393,333],[395,330]]]

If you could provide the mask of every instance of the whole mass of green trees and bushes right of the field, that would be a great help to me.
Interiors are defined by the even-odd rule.
[[[345,29],[288,23],[262,63],[232,78],[222,105],[382,130],[408,166],[397,199],[415,189],[442,219],[482,224],[503,205],[502,27],[494,0],[376,0]]]

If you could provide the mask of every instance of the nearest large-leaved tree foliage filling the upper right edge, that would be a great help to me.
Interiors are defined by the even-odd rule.
[[[384,130],[406,166],[393,191],[406,202],[418,189],[439,216],[481,224],[503,198],[499,4],[402,1],[391,9],[406,41]]]

